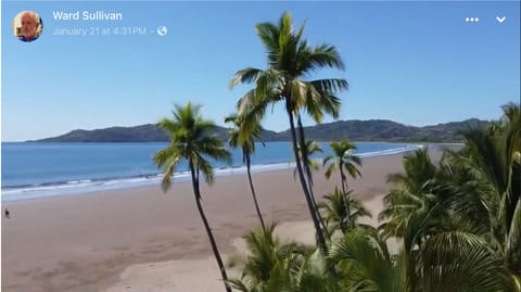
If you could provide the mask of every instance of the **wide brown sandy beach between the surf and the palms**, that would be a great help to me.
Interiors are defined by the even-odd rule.
[[[402,154],[366,158],[363,178],[350,179],[355,195],[374,211],[374,217],[381,208],[380,198],[387,189],[385,176],[399,172],[401,163]],[[293,170],[254,174],[253,179],[267,220],[309,219]],[[317,198],[331,191],[338,182],[336,176],[328,181],[322,173],[317,173]],[[246,176],[219,177],[214,186],[203,186],[202,193],[220,252],[232,254],[236,252],[232,240],[258,225]],[[217,275],[190,182],[176,182],[167,193],[157,186],[2,206],[11,212],[10,219],[2,218],[2,291],[5,292],[161,291],[120,283],[138,277],[132,276],[136,265],[161,270],[165,265],[161,262],[166,261],[177,261],[178,276],[195,276],[185,277],[185,283],[166,280],[155,283],[179,287],[170,291],[187,291],[190,279],[204,281],[198,274],[201,268]],[[294,229],[291,225],[285,227],[291,229]],[[194,287],[190,291],[206,290]]]

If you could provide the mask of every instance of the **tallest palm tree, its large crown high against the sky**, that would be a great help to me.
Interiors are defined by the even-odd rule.
[[[249,67],[237,72],[230,87],[250,82],[255,85],[254,89],[246,92],[238,103],[239,114],[246,116],[247,119],[260,120],[270,104],[284,103],[298,179],[315,225],[318,243],[321,250],[326,251],[326,241],[297,151],[295,117],[304,109],[316,122],[322,119],[325,112],[338,117],[340,100],[334,93],[347,89],[347,81],[344,79],[309,81],[303,77],[308,77],[322,67],[343,69],[344,65],[333,46],[319,45],[312,48],[303,38],[304,26],[294,31],[289,13],[284,13],[278,24],[260,23],[256,28],[266,48],[268,67],[266,69]]]

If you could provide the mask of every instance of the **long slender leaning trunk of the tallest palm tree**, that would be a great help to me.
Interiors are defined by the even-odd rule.
[[[306,198],[307,207],[309,208],[309,214],[312,215],[313,224],[315,225],[315,230],[317,232],[318,245],[322,251],[322,254],[327,254],[327,246],[326,240],[323,239],[322,229],[320,228],[320,223],[317,218],[317,212],[312,202],[312,195],[309,190],[307,189],[306,179],[304,177],[304,172],[302,169],[301,157],[298,155],[298,148],[296,144],[296,130],[295,130],[295,122],[293,119],[293,113],[291,111],[290,104],[287,103],[285,107],[288,112],[288,116],[290,119],[290,129],[291,129],[291,140],[293,142],[293,154],[295,155],[295,163],[296,163],[296,172],[298,173],[298,179],[301,181],[302,190],[304,191],[304,196]]]

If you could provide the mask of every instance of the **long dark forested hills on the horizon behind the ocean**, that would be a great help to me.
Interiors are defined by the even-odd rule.
[[[305,127],[306,138],[313,140],[339,140],[347,138],[352,141],[427,141],[457,142],[462,137],[460,130],[470,127],[484,127],[486,120],[476,118],[463,122],[439,124],[435,126],[414,127],[385,119],[340,120]],[[228,129],[217,127],[217,137],[228,140]],[[265,141],[290,141],[290,130],[275,132],[264,130]],[[136,127],[111,127],[96,130],[73,130],[65,135],[35,140],[35,142],[163,142],[168,137],[153,124]]]

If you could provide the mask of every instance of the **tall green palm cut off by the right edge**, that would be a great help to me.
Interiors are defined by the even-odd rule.
[[[493,189],[490,199],[499,206],[491,214],[498,218],[491,230],[494,243],[521,287],[521,112],[513,103],[503,110],[500,123],[463,132],[460,155]]]

